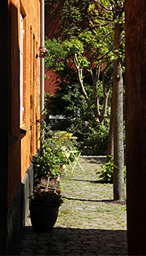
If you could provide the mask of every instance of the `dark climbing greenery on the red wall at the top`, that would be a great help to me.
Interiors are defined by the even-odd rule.
[[[53,16],[53,19],[59,16],[59,33],[63,39],[77,35],[83,27],[88,25],[88,2],[90,1],[45,0],[45,10]]]

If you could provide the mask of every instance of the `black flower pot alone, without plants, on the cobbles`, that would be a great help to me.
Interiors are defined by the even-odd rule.
[[[34,231],[49,231],[54,228],[58,218],[59,206],[39,202],[30,203],[30,217]]]

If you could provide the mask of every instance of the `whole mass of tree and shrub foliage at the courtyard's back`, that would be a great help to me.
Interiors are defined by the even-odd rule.
[[[114,24],[119,19],[124,20],[123,2],[117,2],[116,5],[114,5],[113,0],[97,2],[84,0],[57,2],[50,0],[46,2],[49,6],[54,7],[55,15],[55,11],[60,15],[60,38],[62,38],[62,40],[59,38],[58,40],[46,39],[45,41],[45,47],[49,50],[49,57],[45,60],[45,68],[53,68],[58,73],[59,78],[57,84],[59,89],[56,89],[54,96],[49,95],[48,97],[49,112],[47,115],[49,113],[59,114],[71,119],[75,135],[81,142],[82,148],[92,150],[94,154],[105,154],[110,113],[107,114],[101,126],[92,122],[91,113],[97,116],[93,80],[100,67],[101,73],[94,89],[97,90],[99,110],[102,113],[104,89],[108,89],[112,77],[113,60],[118,58],[117,51],[113,47]],[[85,20],[84,24],[82,23],[83,20]],[[120,51],[119,54],[121,56],[123,52]],[[75,70],[76,66],[79,67],[79,70]],[[105,67],[107,69],[104,72],[105,88],[103,89],[101,76]],[[83,91],[79,88],[78,72],[88,94],[91,105],[90,111],[88,111],[87,103],[82,95]],[[85,120],[91,122],[92,128],[97,132],[85,128]]]

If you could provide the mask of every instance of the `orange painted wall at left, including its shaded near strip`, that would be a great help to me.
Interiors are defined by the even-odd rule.
[[[15,138],[15,141],[9,145],[9,202],[24,178],[32,161],[32,155],[36,154],[40,147],[38,131],[40,59],[36,59],[41,41],[40,5],[40,0],[9,0],[9,133]],[[20,12],[24,19],[23,126],[19,118]]]

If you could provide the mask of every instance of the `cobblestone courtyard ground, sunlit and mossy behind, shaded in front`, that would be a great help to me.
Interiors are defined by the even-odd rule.
[[[113,184],[96,174],[104,157],[82,156],[61,178],[64,203],[53,232],[34,232],[28,217],[19,255],[127,255],[125,202],[113,201]]]

